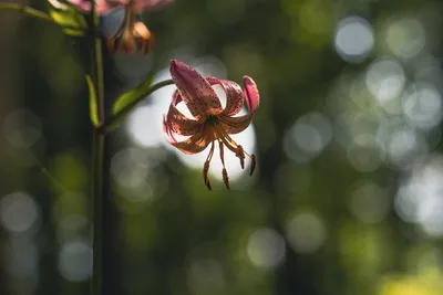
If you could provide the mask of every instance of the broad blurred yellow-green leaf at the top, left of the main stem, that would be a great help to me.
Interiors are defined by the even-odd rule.
[[[62,27],[65,34],[81,36],[87,32],[87,23],[84,15],[73,6],[61,3],[56,0],[48,1],[49,14]]]

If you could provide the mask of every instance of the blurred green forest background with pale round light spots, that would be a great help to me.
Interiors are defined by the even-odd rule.
[[[176,0],[145,15],[155,54],[107,56],[109,104],[152,59],[248,74],[258,171],[235,162],[234,190],[207,191],[161,138],[167,91],[148,97],[106,151],[107,294],[442,294],[442,8]],[[85,294],[87,49],[0,13],[0,294]]]

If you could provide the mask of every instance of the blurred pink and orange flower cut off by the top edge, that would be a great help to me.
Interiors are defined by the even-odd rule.
[[[68,0],[78,10],[91,11],[89,0]],[[106,15],[117,8],[124,9],[123,22],[111,38],[106,38],[111,53],[115,51],[133,52],[135,49],[148,53],[154,45],[154,34],[140,21],[140,13],[151,12],[169,4],[173,0],[95,0],[95,11]]]

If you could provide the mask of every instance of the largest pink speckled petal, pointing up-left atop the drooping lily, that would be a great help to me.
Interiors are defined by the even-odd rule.
[[[203,123],[207,116],[223,112],[217,94],[195,69],[173,60],[169,70],[183,101],[199,123]]]

